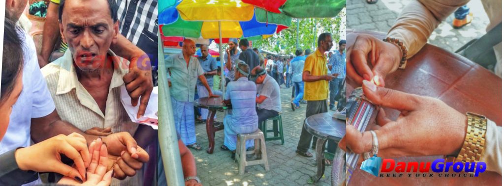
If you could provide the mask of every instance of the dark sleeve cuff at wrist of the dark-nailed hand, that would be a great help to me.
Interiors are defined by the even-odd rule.
[[[38,179],[37,172],[19,169],[15,157],[17,149],[18,148],[0,155],[0,162],[2,162],[2,168],[0,169],[0,185],[21,185]]]

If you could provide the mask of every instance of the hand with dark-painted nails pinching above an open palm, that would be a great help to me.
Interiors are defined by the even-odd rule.
[[[60,154],[72,159],[74,167],[61,162]],[[78,133],[68,136],[57,135],[26,148],[20,148],[15,153],[16,162],[21,170],[36,172],[56,172],[65,176],[86,177],[86,167],[91,162],[86,139]]]

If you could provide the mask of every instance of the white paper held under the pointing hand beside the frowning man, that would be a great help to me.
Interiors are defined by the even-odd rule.
[[[128,113],[132,122],[139,123],[142,125],[151,126],[154,130],[158,129],[158,87],[154,86],[151,93],[151,98],[149,99],[149,104],[145,110],[143,117],[137,118],[138,109],[140,107],[140,101],[136,107],[131,105],[131,97],[128,94],[128,90],[123,85],[121,86],[121,103],[124,110]]]

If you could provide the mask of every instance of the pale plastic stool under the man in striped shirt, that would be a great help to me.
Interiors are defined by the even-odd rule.
[[[254,139],[255,148],[254,150],[247,151],[245,142],[249,139]],[[247,161],[247,154],[255,153],[260,159]],[[270,170],[270,165],[268,164],[268,155],[266,154],[266,143],[264,141],[263,132],[257,129],[256,132],[250,134],[238,134],[236,139],[236,154],[234,160],[238,160],[240,174],[245,173],[245,167],[249,165],[264,164],[264,169],[266,171]]]

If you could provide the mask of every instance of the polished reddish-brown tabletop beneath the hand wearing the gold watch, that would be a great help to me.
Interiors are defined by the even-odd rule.
[[[368,34],[380,40],[385,33],[347,30],[347,46],[355,42],[359,34]],[[350,95],[355,82],[347,78],[346,95]],[[485,115],[497,126],[502,122],[502,79],[478,64],[445,49],[426,44],[408,59],[406,69],[398,69],[387,75],[385,87],[429,96],[445,102],[455,110]],[[385,109],[387,116],[395,120],[399,111]],[[432,162],[443,156],[393,158],[396,162]],[[358,165],[360,166],[360,165]],[[437,174],[434,174],[437,175]],[[350,185],[501,185],[502,177],[485,171],[478,177],[375,177],[356,168]]]

